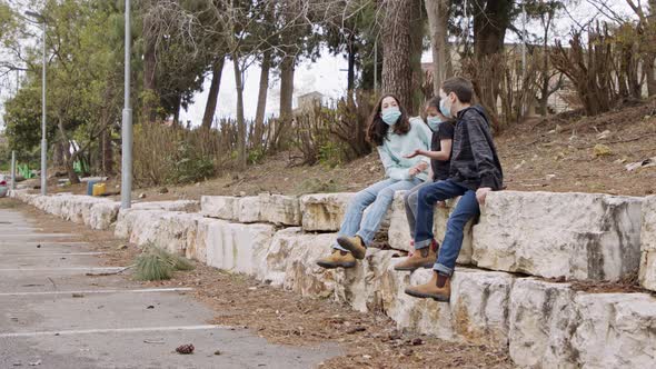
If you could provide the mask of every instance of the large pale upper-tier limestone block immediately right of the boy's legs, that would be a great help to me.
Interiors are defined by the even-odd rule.
[[[619,280],[639,265],[642,199],[499,191],[474,227],[478,267],[540,277]]]

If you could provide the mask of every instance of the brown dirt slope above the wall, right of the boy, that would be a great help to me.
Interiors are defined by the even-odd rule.
[[[598,117],[535,118],[497,139],[508,189],[646,196],[656,167],[625,166],[656,157],[656,99]],[[595,146],[609,149],[595,154]]]

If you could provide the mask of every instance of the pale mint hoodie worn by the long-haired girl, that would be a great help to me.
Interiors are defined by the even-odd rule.
[[[378,147],[380,161],[385,167],[385,174],[399,181],[411,179],[409,170],[418,162],[424,161],[430,168],[430,159],[417,156],[413,159],[406,159],[405,156],[413,153],[416,149],[430,150],[430,138],[433,131],[421,118],[410,118],[410,131],[406,134],[397,134],[390,129],[382,146]],[[428,179],[428,169],[416,176],[418,179],[426,181]]]

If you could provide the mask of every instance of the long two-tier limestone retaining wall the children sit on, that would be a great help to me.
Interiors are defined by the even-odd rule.
[[[19,191],[12,196],[63,219],[90,226],[115,222],[116,203],[111,201]],[[369,249],[365,260],[348,270],[316,266],[315,260],[330,251],[351,196],[314,195],[298,202],[269,195],[203,197],[200,213],[157,206],[143,206],[151,210],[117,208],[115,233],[301,296],[330,298],[359,311],[384,311],[401,329],[449,341],[506,347],[519,367],[656,366],[656,298],[650,293],[589,293],[539,278],[624,278],[638,271],[642,245],[640,281],[654,289],[655,197],[490,195],[468,236],[471,252],[459,262],[494,270],[459,267],[451,282],[451,300],[444,303],[404,293],[408,286],[427,281],[431,270],[394,270],[408,241],[401,193],[390,211],[388,231],[390,245],[401,250]],[[436,235],[440,235],[437,222],[444,222],[453,207],[437,209]],[[284,228],[288,225],[301,227]]]

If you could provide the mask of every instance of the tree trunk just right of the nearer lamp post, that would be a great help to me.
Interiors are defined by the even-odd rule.
[[[145,4],[147,6],[147,4]],[[143,93],[141,114],[145,121],[155,121],[157,119],[157,81],[156,68],[157,60],[155,58],[156,40],[150,36],[150,20],[148,17],[143,19],[142,34],[143,34]]]

